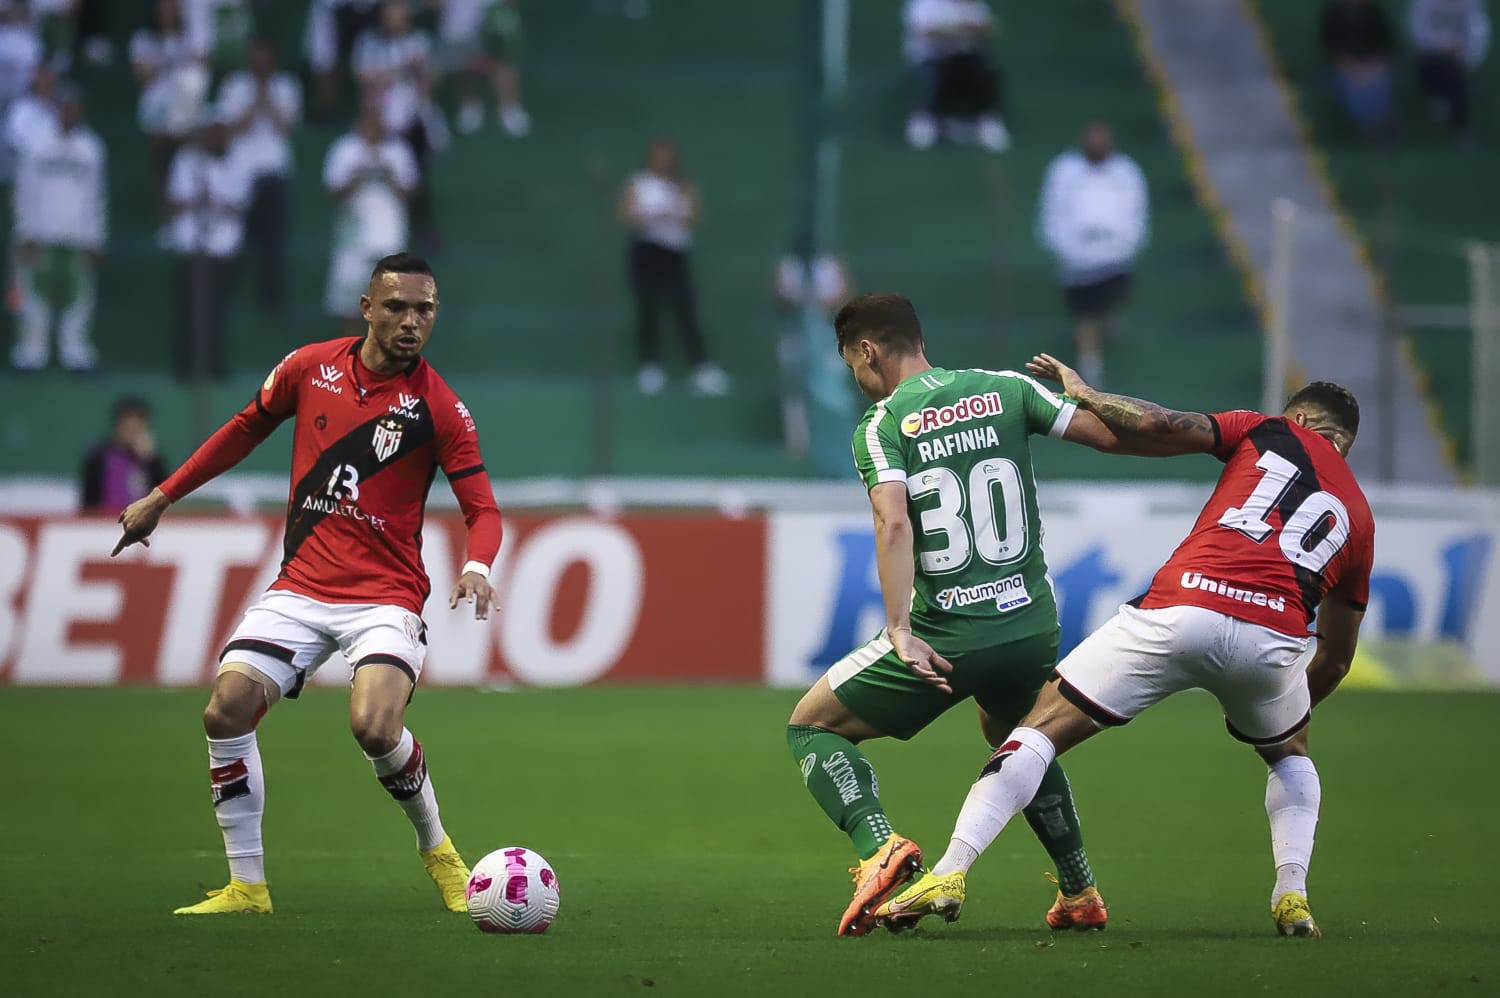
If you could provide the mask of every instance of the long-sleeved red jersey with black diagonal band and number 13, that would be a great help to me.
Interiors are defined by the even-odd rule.
[[[422,359],[375,374],[360,360],[362,342],[332,339],[286,354],[162,491],[182,498],[292,417],[285,555],[272,588],[420,614],[430,590],[422,522],[438,468],[468,521],[468,560],[494,561],[500,510],[474,419],[458,395]]]

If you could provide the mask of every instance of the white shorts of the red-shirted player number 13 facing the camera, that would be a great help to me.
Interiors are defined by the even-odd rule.
[[[324,603],[302,593],[272,590],[244,611],[219,656],[219,669],[249,665],[296,698],[334,651],[350,665],[350,681],[366,665],[392,665],[411,684],[428,657],[428,627],[405,606]]]

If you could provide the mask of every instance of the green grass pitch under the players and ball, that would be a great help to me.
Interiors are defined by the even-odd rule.
[[[760,689],[422,690],[410,725],[471,858],[556,866],[543,936],[448,915],[410,827],[310,690],[261,725],[276,914],[174,918],[222,885],[200,690],[0,690],[0,992],[22,995],[1496,995],[1500,696],[1336,695],[1314,750],[1323,939],[1268,915],[1264,770],[1204,696],[1066,764],[1107,932],[1052,935],[1024,822],[956,924],[838,939],[848,840]],[[942,851],[986,758],[970,708],[870,756]]]

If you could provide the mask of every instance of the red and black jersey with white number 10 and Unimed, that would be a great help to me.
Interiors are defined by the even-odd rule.
[[[1338,449],[1282,416],[1209,419],[1224,471],[1138,605],[1203,606],[1288,635],[1305,635],[1330,593],[1364,609],[1376,521]]]

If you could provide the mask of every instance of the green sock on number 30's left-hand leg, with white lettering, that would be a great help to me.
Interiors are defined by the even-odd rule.
[[[880,780],[864,752],[825,728],[788,725],[786,744],[802,767],[802,783],[818,806],[843,828],[861,860],[880,851],[891,837],[891,821],[880,807]]]

